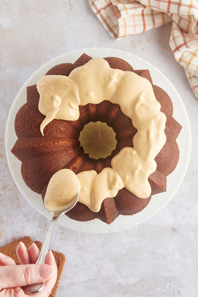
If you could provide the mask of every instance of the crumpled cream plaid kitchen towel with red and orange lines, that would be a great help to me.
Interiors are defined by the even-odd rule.
[[[198,0],[89,0],[95,15],[115,39],[172,21],[170,47],[198,99]]]

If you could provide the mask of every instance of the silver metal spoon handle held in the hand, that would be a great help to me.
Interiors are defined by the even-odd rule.
[[[49,252],[49,245],[50,245],[50,239],[51,239],[51,235],[54,229],[54,226],[56,224],[56,221],[58,219],[58,217],[60,216],[60,213],[58,214],[54,214],[49,228],[47,230],[47,234],[45,236],[43,245],[42,245],[42,249],[40,251],[39,257],[37,259],[36,264],[44,264],[45,263],[45,256],[47,255],[47,253]],[[44,288],[45,282],[41,282],[39,284],[32,284],[32,285],[27,285],[25,287],[22,287],[24,293],[26,294],[34,294],[37,292],[40,292],[43,288]]]

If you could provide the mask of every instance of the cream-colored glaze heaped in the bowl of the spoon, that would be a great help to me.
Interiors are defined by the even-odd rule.
[[[64,211],[74,205],[80,192],[80,181],[70,169],[57,171],[49,181],[44,205],[50,212]]]

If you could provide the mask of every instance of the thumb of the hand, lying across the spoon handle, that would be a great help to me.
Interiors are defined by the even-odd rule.
[[[55,269],[47,264],[7,265],[0,267],[0,290],[45,282]]]

